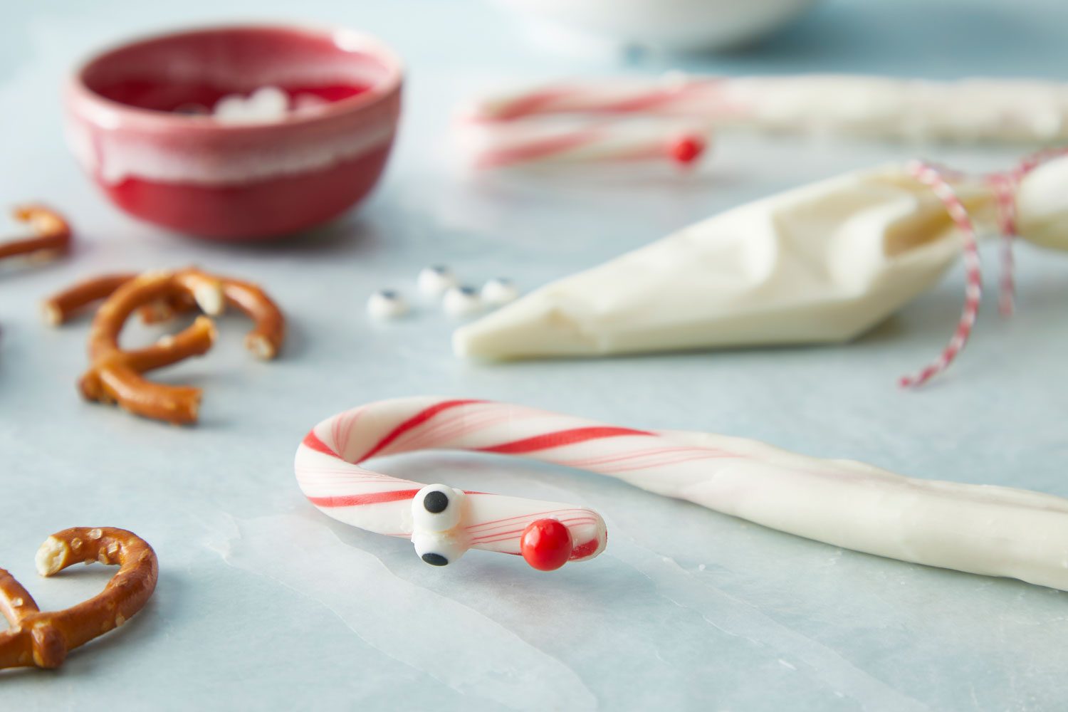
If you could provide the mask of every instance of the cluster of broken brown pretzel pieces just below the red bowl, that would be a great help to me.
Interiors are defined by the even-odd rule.
[[[184,331],[164,336],[153,346],[125,351],[119,346],[119,335],[134,312],[145,321],[160,321],[198,306],[218,315],[230,304],[253,320],[246,347],[261,359],[274,358],[285,336],[282,313],[263,289],[193,268],[90,280],[46,300],[45,319],[52,325],[63,323],[97,299],[106,301],[93,319],[89,338],[92,365],[78,384],[82,395],[99,402],[117,402],[138,415],[174,424],[197,422],[201,390],[153,383],[142,374],[207,352],[215,343],[215,325],[201,316]]]

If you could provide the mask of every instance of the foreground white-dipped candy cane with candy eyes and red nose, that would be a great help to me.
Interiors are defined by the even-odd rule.
[[[527,533],[546,519],[570,534],[567,559],[603,550],[603,522],[585,507],[423,488],[360,466],[419,449],[521,455],[845,549],[1068,590],[1068,500],[1058,496],[913,479],[741,438],[619,428],[506,404],[415,397],[346,411],[304,439],[297,480],[328,516],[411,537],[431,564],[474,548],[522,553],[537,566],[545,552],[528,551],[536,545],[529,545]],[[445,501],[447,521],[424,513],[434,492],[444,495],[433,499]],[[553,545],[545,558],[561,553]]]

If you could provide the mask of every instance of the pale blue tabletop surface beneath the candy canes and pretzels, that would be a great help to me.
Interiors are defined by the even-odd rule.
[[[61,142],[68,67],[130,33],[258,17],[366,29],[407,59],[402,137],[374,197],[313,236],[258,248],[164,235],[107,205]],[[828,2],[759,49],[630,64],[1059,78],[1065,27],[1068,5],[1055,0]],[[611,532],[606,554],[554,574],[483,552],[440,570],[302,500],[292,457],[314,423],[420,393],[1068,495],[1068,259],[1026,246],[1018,316],[1002,320],[988,301],[958,365],[921,393],[895,379],[948,336],[959,270],[842,347],[476,366],[452,358],[452,325],[433,308],[368,325],[366,296],[412,294],[426,264],[530,288],[738,202],[909,155],[724,136],[701,174],[646,181],[472,180],[445,155],[449,110],[481,86],[622,69],[545,56],[503,15],[459,0],[7,3],[0,203],[54,203],[79,243],[68,260],[0,268],[0,565],[43,606],[70,604],[110,571],[38,580],[37,544],[72,525],[115,525],[152,542],[161,575],[140,615],[60,671],[0,675],[0,709],[1064,709],[1062,592],[843,552],[594,475],[484,458],[421,456],[390,472],[592,505]],[[993,167],[1017,152],[933,153]],[[268,286],[290,315],[284,357],[252,362],[244,323],[225,319],[207,358],[166,375],[205,389],[195,429],[83,404],[74,382],[85,323],[50,330],[37,301],[82,275],[189,263]]]

